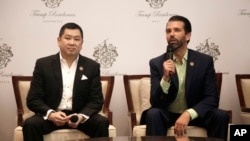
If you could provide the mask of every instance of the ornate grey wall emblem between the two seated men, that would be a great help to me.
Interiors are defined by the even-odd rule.
[[[104,40],[104,44],[98,44],[95,47],[93,56],[96,58],[96,62],[101,64],[102,68],[109,68],[116,61],[118,53],[114,45],[107,44],[106,40]]]

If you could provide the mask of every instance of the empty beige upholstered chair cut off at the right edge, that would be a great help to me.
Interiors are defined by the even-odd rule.
[[[242,123],[250,124],[250,74],[236,74],[235,79],[240,100]]]

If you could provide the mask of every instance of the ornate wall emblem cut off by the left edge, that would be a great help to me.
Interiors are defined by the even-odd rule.
[[[0,69],[7,67],[11,57],[13,57],[11,47],[7,44],[0,45]]]

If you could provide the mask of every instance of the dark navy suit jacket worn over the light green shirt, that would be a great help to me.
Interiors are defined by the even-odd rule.
[[[163,93],[160,81],[163,76],[163,62],[166,54],[150,60],[152,107],[166,109],[178,92],[177,73],[171,76],[168,94]],[[209,55],[188,49],[185,95],[188,108],[193,108],[204,117],[212,108],[218,108],[219,96],[213,58]]]

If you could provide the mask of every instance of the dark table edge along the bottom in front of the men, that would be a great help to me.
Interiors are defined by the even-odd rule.
[[[118,136],[118,137],[100,137],[100,138],[78,139],[78,140],[71,140],[71,141],[224,141],[224,140],[217,139],[217,138],[206,138],[206,137]]]

